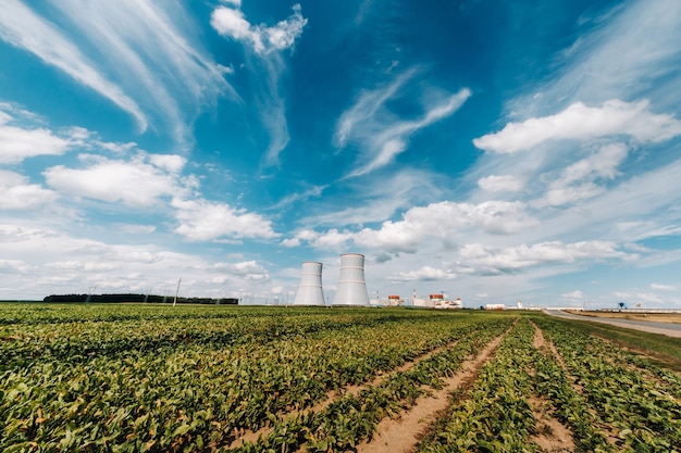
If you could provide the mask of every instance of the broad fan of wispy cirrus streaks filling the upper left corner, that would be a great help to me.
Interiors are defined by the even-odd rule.
[[[225,91],[238,98],[200,49],[179,3],[64,0],[53,5],[62,14],[44,17],[18,0],[2,2],[0,38],[99,92],[129,113],[140,131],[170,130],[186,147],[206,104]]]

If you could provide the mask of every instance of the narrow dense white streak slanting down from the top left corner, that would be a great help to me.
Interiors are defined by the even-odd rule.
[[[60,29],[17,0],[0,2],[0,38],[57,66],[132,114],[140,129],[147,118],[137,103],[107,79]]]

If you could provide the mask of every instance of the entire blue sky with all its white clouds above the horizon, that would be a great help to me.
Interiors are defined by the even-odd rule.
[[[0,299],[681,309],[681,2],[0,2]]]

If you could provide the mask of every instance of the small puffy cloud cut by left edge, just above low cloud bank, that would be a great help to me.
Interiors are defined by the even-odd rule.
[[[18,173],[0,169],[0,210],[34,210],[57,199],[57,192],[27,183]]]

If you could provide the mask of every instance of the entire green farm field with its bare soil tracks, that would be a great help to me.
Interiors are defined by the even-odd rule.
[[[524,312],[0,304],[0,451],[681,452],[673,354],[622,341]]]

